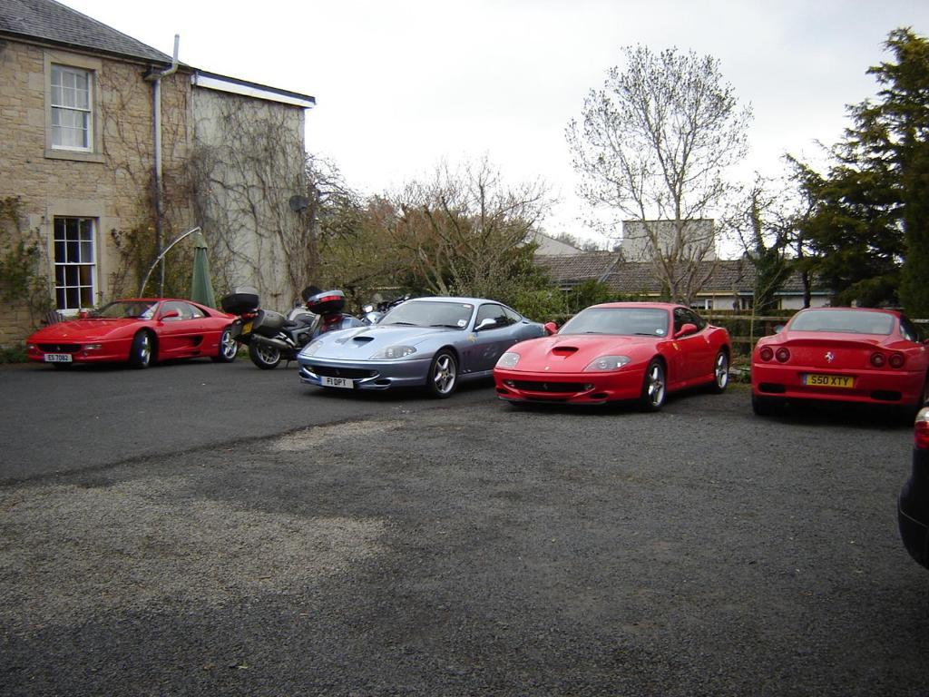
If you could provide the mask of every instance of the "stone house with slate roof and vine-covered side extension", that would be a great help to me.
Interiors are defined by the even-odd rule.
[[[137,293],[124,233],[157,230],[166,243],[201,226],[217,290],[254,285],[286,306],[294,289],[280,266],[304,226],[288,202],[306,192],[314,105],[177,64],[53,0],[0,0],[0,200],[18,200],[0,243],[35,243],[52,307],[72,314]],[[250,138],[268,130],[280,150],[259,162],[249,149],[267,143]],[[35,324],[29,303],[12,303],[0,345]]]

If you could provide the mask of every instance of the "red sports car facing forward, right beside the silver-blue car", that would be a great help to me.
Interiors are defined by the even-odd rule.
[[[669,303],[583,309],[554,336],[523,341],[493,369],[505,401],[599,404],[638,400],[657,411],[668,392],[729,381],[729,334]]]

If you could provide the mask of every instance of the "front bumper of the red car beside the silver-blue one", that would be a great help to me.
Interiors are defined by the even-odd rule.
[[[623,367],[604,373],[551,374],[494,368],[497,397],[505,401],[603,404],[638,399],[643,368]]]

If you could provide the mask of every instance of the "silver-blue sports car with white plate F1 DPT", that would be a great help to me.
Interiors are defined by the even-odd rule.
[[[548,331],[479,297],[421,297],[370,326],[321,335],[300,351],[300,380],[323,388],[424,386],[449,397],[458,381],[490,377],[505,350]]]

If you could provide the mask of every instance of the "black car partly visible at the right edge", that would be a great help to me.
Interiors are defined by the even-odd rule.
[[[929,569],[929,407],[913,428],[913,471],[896,503],[900,537],[909,556]]]

